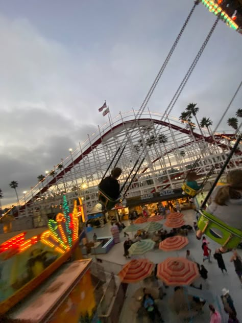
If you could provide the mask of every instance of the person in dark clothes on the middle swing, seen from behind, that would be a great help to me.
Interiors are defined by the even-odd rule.
[[[117,179],[121,173],[122,169],[116,167],[111,171],[111,175],[105,177],[99,184],[99,188],[113,200],[119,197],[120,187]]]

